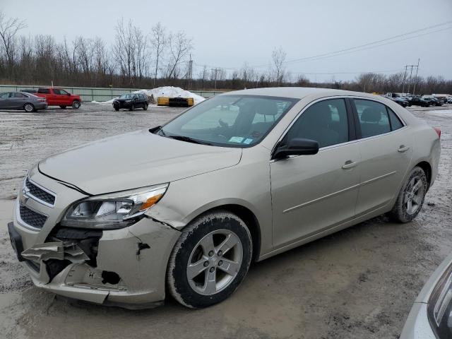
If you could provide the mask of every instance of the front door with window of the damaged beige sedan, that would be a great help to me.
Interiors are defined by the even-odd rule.
[[[355,215],[359,148],[345,99],[323,100],[306,109],[281,141],[319,142],[316,155],[270,162],[275,249],[328,230]]]

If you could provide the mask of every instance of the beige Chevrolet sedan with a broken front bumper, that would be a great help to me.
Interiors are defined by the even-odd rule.
[[[376,95],[262,88],[30,169],[8,225],[38,287],[99,304],[229,297],[253,261],[382,213],[409,222],[440,131]]]

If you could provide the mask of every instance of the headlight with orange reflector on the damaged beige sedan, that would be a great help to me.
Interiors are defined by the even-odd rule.
[[[127,227],[143,218],[167,190],[168,184],[92,196],[74,203],[61,220],[61,226],[112,230]]]

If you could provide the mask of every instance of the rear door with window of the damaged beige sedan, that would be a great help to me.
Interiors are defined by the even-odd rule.
[[[356,214],[385,207],[398,194],[412,157],[412,133],[381,102],[354,99],[361,154]],[[386,206],[387,207],[387,206]]]

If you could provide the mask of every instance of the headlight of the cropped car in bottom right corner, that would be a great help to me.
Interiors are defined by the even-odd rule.
[[[427,307],[430,326],[437,338],[451,338],[452,333],[452,265],[444,271],[434,287]]]

